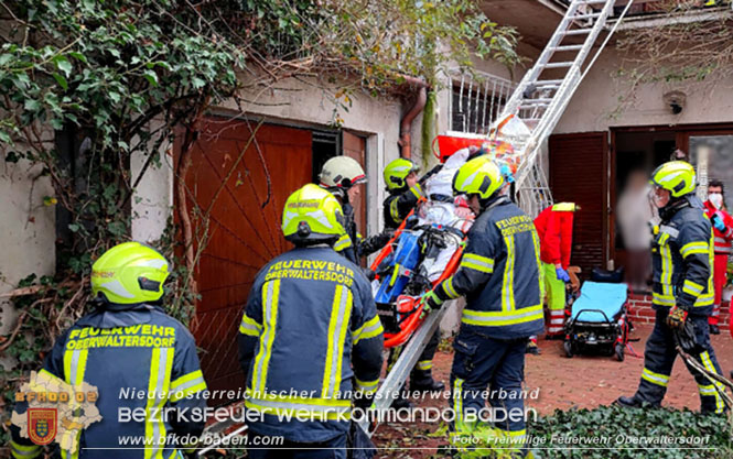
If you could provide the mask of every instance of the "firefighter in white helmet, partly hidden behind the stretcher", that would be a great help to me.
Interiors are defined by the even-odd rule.
[[[334,244],[334,250],[346,256],[352,263],[359,264],[362,256],[368,256],[380,250],[392,238],[391,231],[364,239],[356,230],[354,207],[366,183],[366,174],[356,162],[348,156],[334,156],[326,161],[321,170],[321,187],[327,189],[338,199],[344,211],[345,234]]]

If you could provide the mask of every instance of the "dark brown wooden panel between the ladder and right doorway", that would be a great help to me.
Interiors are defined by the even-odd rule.
[[[607,251],[608,142],[606,132],[550,136],[550,188],[556,203],[581,206],[573,228],[571,264],[588,278],[605,267]]]

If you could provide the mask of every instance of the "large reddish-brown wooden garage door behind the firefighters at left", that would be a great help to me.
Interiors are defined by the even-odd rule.
[[[311,181],[310,131],[263,124],[247,147],[255,129],[246,121],[209,119],[185,177],[195,227],[206,225],[211,208],[208,242],[195,271],[201,299],[192,329],[212,390],[242,386],[237,330],[244,305],[259,269],[292,247],[280,231],[282,207]]]

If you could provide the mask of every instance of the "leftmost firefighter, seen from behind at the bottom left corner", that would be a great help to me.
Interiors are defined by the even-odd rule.
[[[91,266],[96,308],[56,340],[41,370],[46,379],[98,389],[101,420],[82,430],[80,448],[62,450],[62,458],[170,458],[177,452],[166,435],[197,438],[203,431],[206,383],[193,336],[161,307],[168,275],[163,255],[138,242],[109,249]],[[125,390],[144,391],[145,396],[121,400]],[[119,408],[171,412],[148,414],[144,422],[134,416],[120,422]],[[127,449],[120,444],[122,437],[143,438],[149,447]],[[13,426],[11,453],[34,458],[41,447],[21,438]]]

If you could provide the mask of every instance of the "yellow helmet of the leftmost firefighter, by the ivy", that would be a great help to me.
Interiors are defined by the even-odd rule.
[[[106,251],[91,265],[91,294],[109,303],[155,302],[163,296],[168,260],[139,242],[125,242]]]

